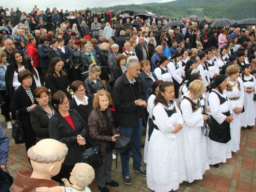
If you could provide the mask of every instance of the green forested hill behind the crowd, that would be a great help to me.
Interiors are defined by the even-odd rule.
[[[176,0],[166,3],[145,3],[141,5],[117,5],[113,7],[91,8],[92,11],[101,12],[102,10],[123,10],[132,9],[147,10],[159,15],[168,17],[188,17],[197,15],[201,19],[203,16],[208,18],[230,18],[240,20],[248,17],[256,17],[256,0]]]

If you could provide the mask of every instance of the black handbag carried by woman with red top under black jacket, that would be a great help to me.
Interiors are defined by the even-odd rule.
[[[98,168],[99,166],[103,165],[103,161],[101,158],[101,146],[100,145],[94,145],[93,142],[90,139],[89,134],[86,131],[82,131],[84,134],[86,134],[87,139],[91,143],[92,147],[85,149],[84,146],[82,146],[82,157],[83,161],[89,165],[91,165],[93,168]]]

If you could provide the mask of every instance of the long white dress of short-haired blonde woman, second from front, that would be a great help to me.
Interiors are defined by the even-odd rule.
[[[184,96],[190,98],[189,91]],[[193,101],[197,103],[198,99]],[[180,109],[184,119],[181,138],[186,172],[185,181],[191,183],[194,180],[203,179],[205,170],[209,169],[206,137],[202,134],[203,109],[201,107],[193,113],[191,103],[186,99],[181,101]]]

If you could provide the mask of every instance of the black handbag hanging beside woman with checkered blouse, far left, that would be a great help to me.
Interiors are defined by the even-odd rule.
[[[25,134],[22,129],[22,123],[19,121],[18,110],[15,113],[15,120],[12,125],[12,138],[15,144],[21,144],[26,142]]]

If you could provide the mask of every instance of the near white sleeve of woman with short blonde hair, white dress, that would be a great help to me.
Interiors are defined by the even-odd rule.
[[[193,116],[193,111],[191,108],[191,103],[184,99],[180,103],[180,109],[182,111],[184,122],[187,126],[203,126],[204,118],[203,115]]]

